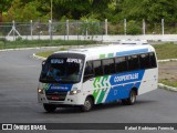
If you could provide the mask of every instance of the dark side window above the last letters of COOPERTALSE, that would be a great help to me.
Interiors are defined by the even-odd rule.
[[[128,57],[128,70],[137,70],[137,69],[139,69],[138,55],[129,55]]]

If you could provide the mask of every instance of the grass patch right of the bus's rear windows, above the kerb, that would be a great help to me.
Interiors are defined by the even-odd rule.
[[[153,47],[156,50],[158,60],[177,59],[177,44],[165,43],[165,44],[154,44]]]

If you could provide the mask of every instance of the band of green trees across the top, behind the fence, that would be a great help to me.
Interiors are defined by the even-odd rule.
[[[144,19],[150,27],[160,23],[162,19],[171,24],[177,21],[177,0],[1,0],[0,14],[8,22],[48,21],[51,18],[51,1],[52,17],[56,21],[91,18],[94,22],[107,19],[115,24],[123,19]],[[96,29],[97,25],[92,27]],[[136,34],[138,29],[134,27],[129,32]]]

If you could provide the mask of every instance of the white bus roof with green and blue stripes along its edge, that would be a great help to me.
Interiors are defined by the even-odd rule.
[[[97,60],[113,57],[123,57],[138,53],[147,53],[155,51],[149,44],[135,45],[135,44],[110,44],[104,47],[94,47],[85,49],[72,49],[69,51],[59,51],[55,53],[79,53],[84,54],[87,60]]]

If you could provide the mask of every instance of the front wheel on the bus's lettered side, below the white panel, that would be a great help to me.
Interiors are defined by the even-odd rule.
[[[93,108],[93,100],[91,96],[86,98],[84,105],[81,106],[82,112],[88,112]]]

